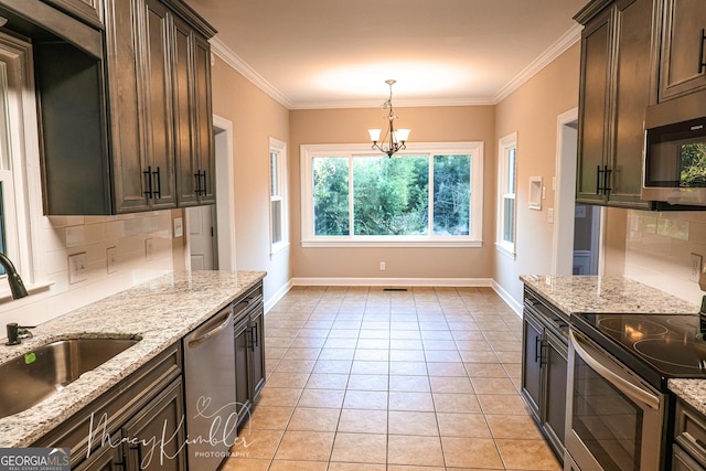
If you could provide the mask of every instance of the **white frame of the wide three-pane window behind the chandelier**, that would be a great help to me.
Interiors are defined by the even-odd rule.
[[[471,156],[471,202],[470,233],[468,236],[315,236],[313,224],[313,171],[312,159],[317,157],[383,157],[379,151],[371,149],[370,143],[356,144],[301,144],[301,246],[302,247],[481,247],[483,244],[483,149],[482,141],[466,142],[415,142],[404,151],[398,151],[392,159],[404,156]],[[432,167],[432,164],[430,164]],[[352,172],[349,169],[349,172]],[[432,174],[430,174],[431,176]],[[432,208],[429,184],[429,208]],[[352,196],[353,185],[349,194]],[[351,205],[353,202],[351,201]]]

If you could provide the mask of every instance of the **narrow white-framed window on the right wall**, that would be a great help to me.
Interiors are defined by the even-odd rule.
[[[517,133],[502,138],[498,144],[498,242],[501,251],[515,255]]]

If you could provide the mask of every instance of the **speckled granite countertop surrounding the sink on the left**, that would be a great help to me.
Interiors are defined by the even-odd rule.
[[[0,344],[0,363],[68,338],[141,340],[36,406],[0,419],[0,448],[28,447],[120,379],[156,357],[234,298],[264,271],[178,271],[77,309],[32,329],[20,345]],[[7,378],[3,378],[7,381]]]

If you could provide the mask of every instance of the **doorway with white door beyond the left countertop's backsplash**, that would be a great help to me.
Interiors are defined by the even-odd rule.
[[[233,184],[233,124],[213,116],[216,159],[216,204],[184,211],[186,268],[235,270],[235,188]]]

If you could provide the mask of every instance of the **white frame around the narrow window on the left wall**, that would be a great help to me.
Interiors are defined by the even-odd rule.
[[[287,186],[287,143],[275,139],[272,137],[269,138],[269,254],[270,257],[285,251],[289,248],[289,197],[288,197],[288,186]],[[276,162],[277,174],[276,179],[272,178],[272,160]],[[276,180],[276,181],[275,181]],[[277,196],[272,195],[272,188],[277,185]],[[280,202],[280,227],[281,227],[281,239],[279,242],[274,240],[274,228],[275,228],[275,214],[272,211],[272,203],[275,201]]]

